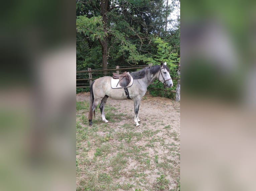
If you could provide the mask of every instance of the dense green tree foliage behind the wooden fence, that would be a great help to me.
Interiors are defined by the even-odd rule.
[[[166,62],[171,77],[176,77],[179,63],[179,20],[172,29],[165,28],[165,0],[108,0],[107,23],[100,13],[100,1],[77,1],[77,70],[101,69],[102,47],[107,40],[107,67],[126,67]],[[116,8],[114,8],[116,7]],[[104,32],[105,31],[105,32]],[[88,76],[79,75],[83,79]],[[95,75],[95,78],[102,77]],[[86,83],[86,82],[82,82]],[[159,84],[156,88],[162,89]],[[172,88],[175,90],[175,86]],[[78,89],[78,92],[83,90]],[[160,92],[160,93],[159,93]],[[174,94],[152,91],[152,95],[174,98]]]

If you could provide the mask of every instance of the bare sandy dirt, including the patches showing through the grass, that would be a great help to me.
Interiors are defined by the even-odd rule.
[[[89,93],[80,93],[77,94],[77,101],[89,101]],[[143,132],[145,130],[160,130],[159,133],[155,135],[155,138],[159,137],[164,140],[164,145],[161,145],[159,142],[155,143],[154,148],[146,147],[148,150],[148,154],[151,158],[157,154],[159,156],[159,162],[161,158],[166,158],[166,160],[176,161],[175,168],[179,168],[179,157],[177,155],[172,155],[168,149],[166,149],[167,145],[175,144],[177,146],[177,151],[179,152],[180,147],[180,103],[175,102],[175,100],[165,98],[165,97],[153,97],[149,95],[147,92],[146,95],[141,99],[140,108],[139,108],[139,118],[140,118],[140,126],[136,127],[134,123],[134,106],[133,100],[114,100],[112,98],[108,98],[106,105],[113,106],[117,109],[118,112],[126,113],[128,116],[131,116],[125,120],[121,120],[119,122],[109,122],[111,128],[115,129],[115,131],[120,131],[120,128],[125,123],[131,123],[134,125],[134,132]],[[107,113],[105,113],[106,115]],[[85,112],[85,117],[88,117],[88,111]],[[96,118],[101,119],[99,105],[96,110]],[[94,119],[94,118],[93,118]],[[104,123],[104,121],[102,121]],[[171,130],[168,130],[164,127],[170,126]],[[169,132],[174,132],[177,134],[177,139],[169,136]],[[148,140],[140,140],[136,144],[140,146],[145,146],[148,143]],[[93,157],[93,152],[91,153]],[[88,156],[90,153],[88,153]],[[130,160],[128,162],[127,170],[132,169],[137,166],[135,161]],[[156,180],[156,177],[159,177],[158,170],[155,168],[154,171],[144,172],[148,174],[148,184],[153,186],[153,182]],[[170,180],[170,187],[172,189],[175,187],[175,180],[172,179],[171,174],[167,173],[167,178]],[[119,183],[122,183],[122,180],[119,180]],[[125,179],[124,179],[125,182]],[[149,187],[150,187],[149,186]],[[144,188],[144,190],[148,190]]]

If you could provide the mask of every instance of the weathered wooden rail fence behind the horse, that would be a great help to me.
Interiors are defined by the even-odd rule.
[[[98,78],[93,78],[93,73],[108,72],[108,75],[112,76],[112,72],[115,72],[117,74],[119,74],[120,71],[130,71],[130,72],[132,72],[132,71],[135,71],[136,69],[142,69],[142,68],[145,68],[147,66],[148,65],[146,65],[146,66],[136,66],[136,67],[126,67],[126,68],[120,68],[119,66],[116,66],[115,68],[105,69],[105,70],[101,70],[101,69],[100,70],[91,70],[91,68],[88,68],[88,70],[77,71],[77,76],[81,75],[81,74],[85,74],[85,75],[87,73],[89,74],[89,78],[77,79],[77,88],[90,88],[90,85],[92,84],[93,80],[98,79]],[[178,85],[180,84],[179,78],[172,78],[172,80],[177,80],[177,84]],[[89,81],[89,83],[78,83],[79,81]],[[162,90],[162,89],[154,88],[154,87],[151,87],[150,89],[177,93],[177,90],[169,90],[169,89]]]

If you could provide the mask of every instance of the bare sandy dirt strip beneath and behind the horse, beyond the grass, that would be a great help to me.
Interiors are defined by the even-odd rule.
[[[77,101],[88,101],[90,100],[89,92],[77,94]],[[110,106],[116,107],[118,111],[125,112],[126,114],[134,117],[134,106],[133,100],[114,100],[108,98],[107,103]],[[121,108],[122,109],[121,109]],[[139,118],[140,126],[143,126],[145,121],[162,121],[163,123],[171,123],[171,126],[175,131],[180,134],[180,104],[174,100],[165,97],[153,97],[147,92],[144,98],[141,99],[139,108]],[[100,112],[99,109],[96,112]],[[86,113],[88,114],[88,113]],[[119,124],[113,125],[123,125],[123,123],[128,121],[120,121]],[[134,118],[129,119],[129,122],[134,123]],[[155,124],[147,124],[147,128],[159,128]]]

